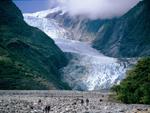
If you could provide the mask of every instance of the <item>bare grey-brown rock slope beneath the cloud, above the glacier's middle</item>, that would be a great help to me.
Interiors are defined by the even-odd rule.
[[[83,16],[72,17],[67,12],[59,11],[46,16],[57,20],[61,26],[72,33],[73,40],[91,42],[95,39],[106,20],[90,20]]]

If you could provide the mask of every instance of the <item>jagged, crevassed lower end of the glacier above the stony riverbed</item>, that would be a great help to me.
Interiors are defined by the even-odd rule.
[[[75,55],[62,69],[64,80],[74,89],[109,89],[125,77],[128,62],[105,56]]]

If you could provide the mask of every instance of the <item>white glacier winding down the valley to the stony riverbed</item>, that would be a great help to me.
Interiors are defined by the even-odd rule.
[[[69,64],[60,70],[63,80],[74,90],[105,90],[124,79],[126,71],[136,63],[136,59],[107,57],[92,48],[89,41],[72,40],[74,35],[71,31],[55,19],[46,18],[59,10],[55,8],[24,14],[24,20],[53,38],[70,58]]]

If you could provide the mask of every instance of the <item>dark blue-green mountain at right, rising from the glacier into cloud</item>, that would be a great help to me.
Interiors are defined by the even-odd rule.
[[[113,57],[150,55],[150,1],[141,1],[124,16],[104,23],[93,47]]]

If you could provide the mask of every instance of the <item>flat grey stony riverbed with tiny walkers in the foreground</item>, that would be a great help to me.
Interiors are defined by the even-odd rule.
[[[110,93],[0,91],[0,113],[150,113],[150,105],[109,100]]]

